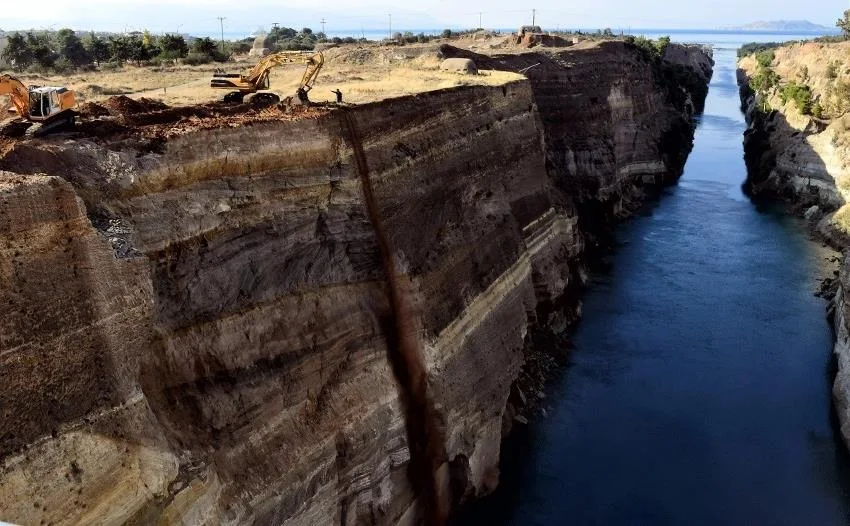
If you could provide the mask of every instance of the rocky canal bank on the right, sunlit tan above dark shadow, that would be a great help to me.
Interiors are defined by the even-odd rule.
[[[833,46],[808,43],[776,50],[772,67],[783,78],[799,78],[806,68],[807,82],[818,96],[825,96],[830,84],[825,67],[829,58],[839,52],[845,56],[846,44]],[[827,52],[824,52],[826,48]],[[782,101],[777,92],[761,98],[750,88],[757,73],[754,57],[739,62],[738,84],[741,105],[746,114],[744,158],[747,180],[744,188],[757,198],[781,199],[798,213],[805,215],[813,231],[836,250],[850,247],[850,230],[846,206],[847,182],[850,180],[846,145],[846,116],[824,120],[802,115],[793,101]],[[766,104],[765,104],[766,103]],[[769,109],[765,112],[765,108]],[[834,352],[838,370],[833,384],[835,409],[841,424],[841,435],[850,447],[850,268],[845,261],[838,279],[831,283],[834,293],[829,305],[836,337]],[[827,284],[830,284],[827,281]]]

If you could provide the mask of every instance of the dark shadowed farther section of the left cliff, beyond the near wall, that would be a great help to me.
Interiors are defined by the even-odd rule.
[[[659,59],[622,41],[492,57],[446,46],[443,53],[525,72],[547,171],[576,203],[591,245],[682,174],[714,65],[699,46],[670,45]]]

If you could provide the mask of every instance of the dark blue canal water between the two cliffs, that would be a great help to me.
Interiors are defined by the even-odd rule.
[[[828,255],[741,193],[737,46],[718,45],[680,183],[594,276],[548,417],[457,524],[850,524],[830,407]]]

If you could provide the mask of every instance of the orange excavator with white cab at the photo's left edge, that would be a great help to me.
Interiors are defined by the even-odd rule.
[[[9,95],[18,117],[0,123],[0,134],[43,135],[60,128],[73,128],[77,103],[73,90],[60,86],[27,86],[17,77],[0,75],[0,95]],[[37,124],[32,130],[30,128]]]

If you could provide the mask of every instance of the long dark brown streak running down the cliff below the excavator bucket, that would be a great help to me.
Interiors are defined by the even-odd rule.
[[[354,153],[366,210],[375,229],[381,262],[387,276],[390,303],[390,313],[386,320],[387,356],[406,412],[405,424],[410,448],[409,475],[414,490],[422,499],[426,524],[440,525],[446,522],[448,503],[438,474],[447,454],[436,409],[428,396],[428,379],[420,340],[416,334],[410,282],[398,271],[372,188],[366,152],[355,118],[348,110],[340,114],[343,130]]]

